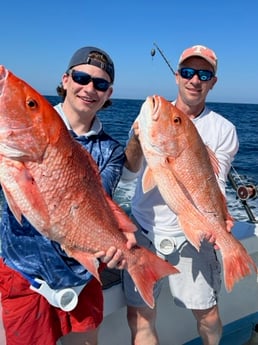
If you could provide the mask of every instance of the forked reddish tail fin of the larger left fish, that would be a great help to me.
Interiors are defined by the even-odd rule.
[[[137,265],[128,267],[135,287],[141,297],[150,308],[154,308],[155,300],[153,297],[153,288],[155,283],[168,275],[179,273],[179,271],[169,262],[159,258],[156,254],[146,248],[139,248],[141,254],[137,258]]]

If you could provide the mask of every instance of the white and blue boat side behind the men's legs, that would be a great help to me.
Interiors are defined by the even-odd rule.
[[[258,265],[258,225],[239,222],[233,229]],[[218,257],[221,256],[218,251]],[[121,284],[104,290],[105,319],[100,328],[99,345],[131,345],[126,321],[126,307]],[[161,345],[201,345],[196,331],[196,322],[189,310],[174,305],[167,279],[158,299],[157,330]],[[236,283],[228,293],[224,283],[219,297],[223,323],[223,338],[220,345],[254,345],[248,343],[255,329],[258,331],[258,281],[257,273]],[[257,333],[258,336],[258,333]],[[258,344],[258,342],[256,343]]]

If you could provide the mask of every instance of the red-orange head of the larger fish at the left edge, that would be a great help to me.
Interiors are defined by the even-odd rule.
[[[48,101],[0,65],[0,155],[41,160],[60,133],[62,120]]]

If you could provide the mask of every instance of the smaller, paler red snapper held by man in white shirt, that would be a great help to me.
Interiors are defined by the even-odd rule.
[[[147,162],[143,191],[158,187],[197,250],[203,239],[214,239],[222,254],[225,286],[231,291],[257,267],[230,232],[233,219],[217,183],[215,155],[189,117],[160,96],[147,97],[135,127]]]

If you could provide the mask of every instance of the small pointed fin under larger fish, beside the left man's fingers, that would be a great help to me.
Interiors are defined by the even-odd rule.
[[[98,272],[99,261],[93,254],[70,248],[64,248],[64,250],[68,256],[77,260],[101,283]]]

